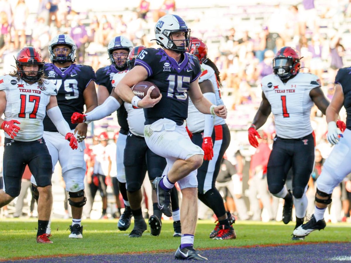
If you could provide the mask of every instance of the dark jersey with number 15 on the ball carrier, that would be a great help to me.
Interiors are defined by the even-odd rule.
[[[145,124],[167,118],[182,125],[188,116],[187,91],[190,83],[201,74],[199,60],[190,53],[184,53],[178,63],[162,48],[145,48],[135,60],[137,65],[147,70],[147,81],[154,83],[162,94],[160,102],[144,109]]]

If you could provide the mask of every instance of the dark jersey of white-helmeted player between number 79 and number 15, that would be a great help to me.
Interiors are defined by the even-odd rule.
[[[106,67],[102,67],[99,68],[96,71],[96,83],[98,85],[102,85],[105,86],[108,90],[108,93],[111,94],[112,92],[112,78],[113,75],[118,73],[119,70],[116,69],[116,67],[114,65],[109,65]],[[127,135],[128,134],[128,130],[129,130],[129,126],[128,126],[128,122],[127,122],[127,111],[124,108],[124,104],[121,104],[121,107],[117,110],[117,120],[118,120],[118,124],[119,126],[121,126],[121,129],[119,130],[119,132],[121,134]]]

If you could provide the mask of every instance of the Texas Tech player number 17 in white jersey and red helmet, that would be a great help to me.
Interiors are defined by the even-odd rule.
[[[44,79],[44,60],[38,50],[24,47],[16,56],[17,70],[0,77],[0,119],[5,131],[4,188],[0,207],[10,203],[21,190],[21,178],[28,164],[37,182],[38,243],[52,243],[46,233],[52,209],[52,162],[43,138],[45,113],[66,146],[66,155],[77,149],[69,124],[58,107],[56,86]],[[69,141],[69,143],[67,142]],[[72,148],[72,149],[71,149]]]

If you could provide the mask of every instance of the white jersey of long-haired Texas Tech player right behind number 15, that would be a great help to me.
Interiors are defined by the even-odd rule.
[[[199,83],[205,80],[212,82],[214,94],[216,95],[216,105],[224,105],[219,90],[219,83],[217,81],[217,77],[214,73],[213,68],[206,64],[201,64],[201,75],[199,77]],[[222,125],[224,123],[224,119],[218,116],[214,116],[214,125]],[[205,115],[197,110],[191,99],[189,100],[188,118],[186,119],[186,125],[188,126],[188,129],[193,133],[203,131],[205,128]]]

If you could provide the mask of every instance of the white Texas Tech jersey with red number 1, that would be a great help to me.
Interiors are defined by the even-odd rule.
[[[316,75],[298,73],[284,83],[271,74],[262,78],[261,87],[271,104],[278,137],[298,139],[312,133],[310,91],[320,87]]]

